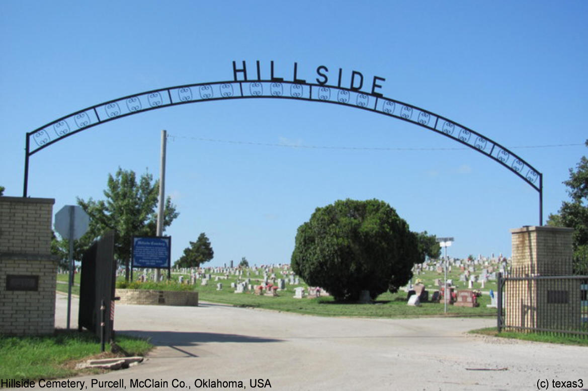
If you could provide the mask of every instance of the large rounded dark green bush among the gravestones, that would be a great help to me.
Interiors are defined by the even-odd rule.
[[[424,261],[415,233],[387,203],[338,200],[317,208],[298,228],[292,270],[336,300],[397,292]]]

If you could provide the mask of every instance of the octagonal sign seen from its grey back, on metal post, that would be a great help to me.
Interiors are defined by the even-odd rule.
[[[65,205],[55,213],[55,230],[69,241],[68,330],[74,285],[74,240],[86,233],[89,223],[90,216],[78,205]]]

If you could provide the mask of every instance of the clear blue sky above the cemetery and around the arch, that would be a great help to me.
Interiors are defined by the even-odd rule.
[[[385,78],[387,98],[510,148],[543,173],[546,219],[587,152],[587,16],[585,1],[3,1],[0,185],[22,195],[25,133],[68,113],[231,80],[232,61],[255,69],[259,60],[266,74],[274,61],[289,79],[296,62],[309,82],[320,65],[342,68],[344,83],[354,70]],[[412,230],[453,236],[449,255],[459,257],[510,256],[509,230],[539,222],[537,191],[449,138],[280,99],[173,106],[95,126],[33,155],[28,193],[55,198],[57,212],[76,196],[101,199],[119,166],[157,178],[162,129],[171,136],[166,195],[181,213],[166,230],[172,262],[206,232],[209,265],[287,263],[298,226],[345,198],[385,200]],[[565,146],[529,148],[545,145]]]

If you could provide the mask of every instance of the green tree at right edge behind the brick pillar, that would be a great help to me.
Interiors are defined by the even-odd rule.
[[[588,140],[586,140],[588,147]],[[547,225],[574,229],[574,272],[588,274],[588,159],[580,158],[576,169],[570,168],[567,186],[569,201],[563,201],[557,215],[550,215]]]

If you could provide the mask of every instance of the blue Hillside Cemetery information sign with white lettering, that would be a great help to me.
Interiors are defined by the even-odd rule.
[[[133,268],[169,269],[171,236],[133,237]]]

